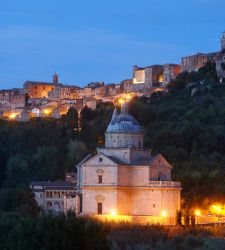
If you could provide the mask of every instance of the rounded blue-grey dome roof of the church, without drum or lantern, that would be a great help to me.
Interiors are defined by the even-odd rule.
[[[116,115],[110,122],[106,133],[142,133],[143,129],[137,120],[127,114]]]

